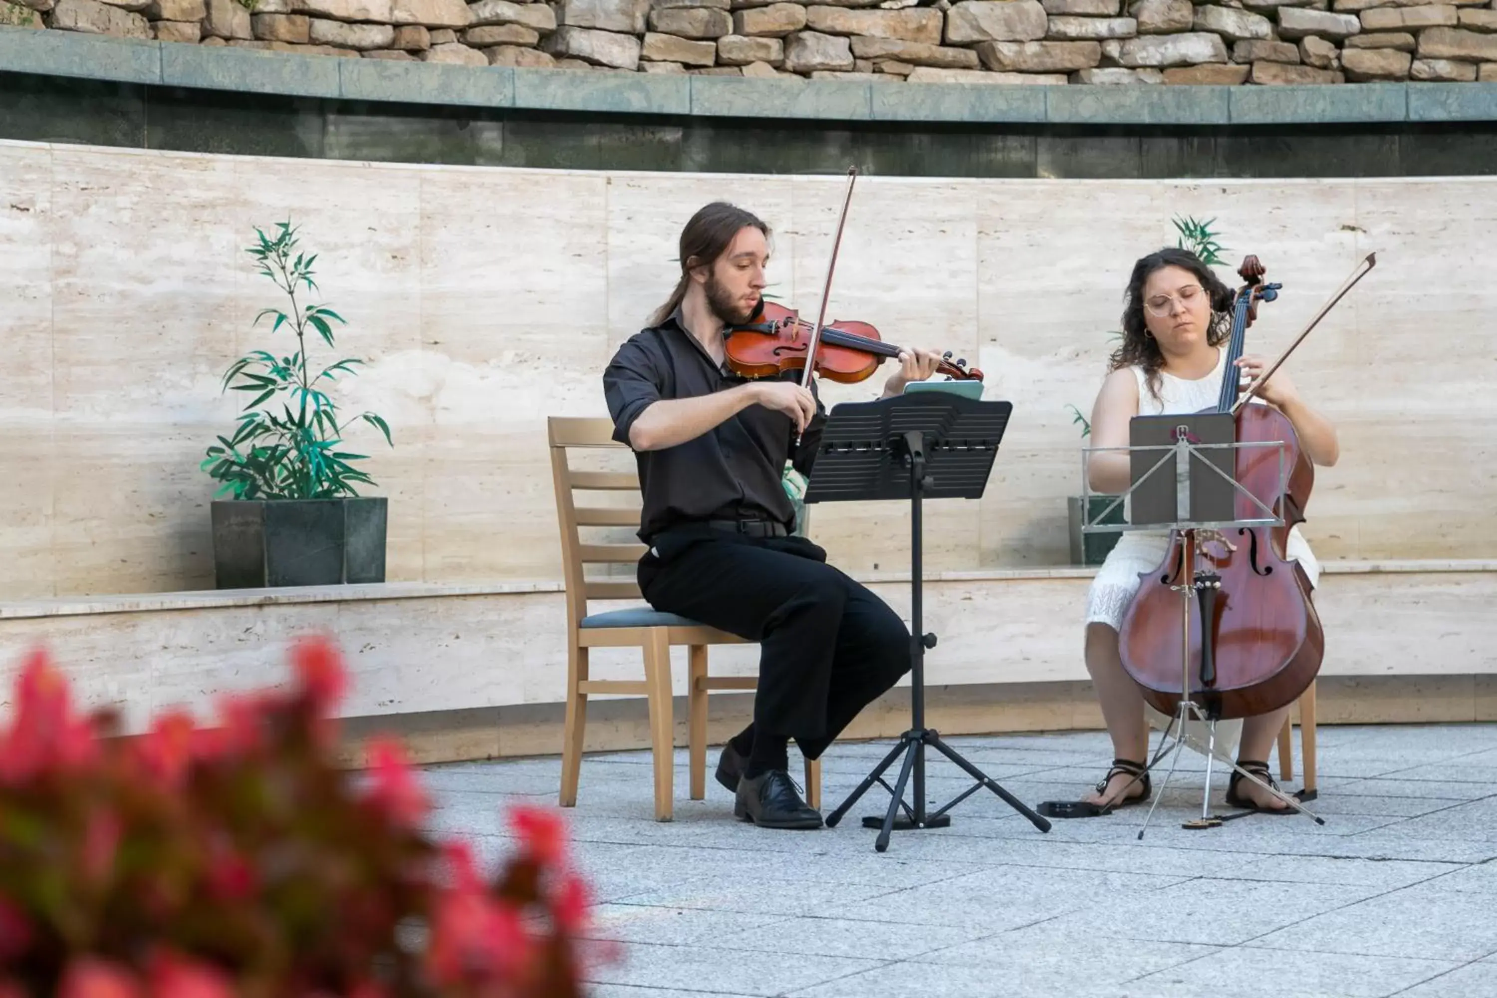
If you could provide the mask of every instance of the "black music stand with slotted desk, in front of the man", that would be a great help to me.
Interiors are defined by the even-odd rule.
[[[910,500],[910,730],[900,736],[883,762],[826,817],[829,827],[858,802],[873,784],[889,792],[883,817],[870,815],[864,827],[877,827],[877,851],[889,847],[894,829],[934,829],[951,824],[948,811],[987,787],[1003,798],[1042,832],[1049,821],[1030,811],[1007,790],[963,759],[925,727],[925,649],[936,646],[936,634],[922,633],[921,606],[921,500],[981,498],[1007,426],[1012,402],[984,402],[952,392],[912,392],[876,402],[846,402],[832,408],[822,432],[805,503],[859,500]],[[925,747],[937,750],[978,781],[945,806],[925,811]],[[904,754],[904,766],[894,787],[883,781],[883,771]],[[915,774],[915,806],[904,803],[904,786]],[[903,818],[895,818],[898,811]]]

